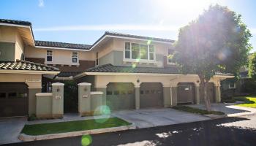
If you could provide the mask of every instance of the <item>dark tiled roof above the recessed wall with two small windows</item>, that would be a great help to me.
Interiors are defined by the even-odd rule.
[[[70,49],[89,50],[91,45],[72,44],[67,42],[50,42],[50,41],[35,41],[36,46],[42,47],[61,47]]]

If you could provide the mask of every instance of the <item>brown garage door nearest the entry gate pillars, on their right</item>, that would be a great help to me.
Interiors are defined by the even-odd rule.
[[[107,85],[107,105],[110,110],[135,109],[135,88],[132,82],[110,82]]]

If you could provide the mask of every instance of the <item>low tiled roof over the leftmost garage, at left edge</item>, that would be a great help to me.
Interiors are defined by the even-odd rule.
[[[1,61],[0,69],[9,70],[31,70],[31,71],[59,71],[58,68],[53,66],[46,66],[44,64],[37,64],[29,61]]]

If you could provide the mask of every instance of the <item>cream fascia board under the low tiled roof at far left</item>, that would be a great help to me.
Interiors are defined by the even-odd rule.
[[[60,72],[56,71],[33,71],[33,70],[8,70],[0,69],[0,74],[52,74],[56,75]]]

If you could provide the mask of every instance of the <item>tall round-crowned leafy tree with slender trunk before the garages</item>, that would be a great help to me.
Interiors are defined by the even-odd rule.
[[[227,7],[210,6],[196,20],[179,29],[173,56],[183,74],[198,74],[206,110],[211,110],[206,85],[217,72],[237,74],[252,45],[241,15]]]

